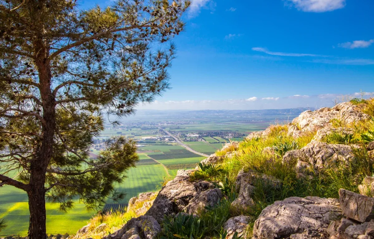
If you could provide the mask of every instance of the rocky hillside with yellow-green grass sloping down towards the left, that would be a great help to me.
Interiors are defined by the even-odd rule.
[[[253,132],[71,238],[374,238],[373,117],[352,100]]]

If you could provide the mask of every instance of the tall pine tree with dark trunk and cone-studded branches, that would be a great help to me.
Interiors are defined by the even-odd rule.
[[[138,159],[134,143],[110,140],[95,159],[90,145],[105,116],[168,89],[170,41],[189,4],[0,0],[0,186],[27,193],[30,239],[45,238],[45,199],[67,210],[76,198],[94,209],[123,197],[114,184]]]

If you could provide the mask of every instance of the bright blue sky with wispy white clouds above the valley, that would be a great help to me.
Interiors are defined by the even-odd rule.
[[[96,3],[110,1],[81,1]],[[138,108],[320,108],[361,89],[369,97],[373,10],[373,0],[192,0],[172,89]]]

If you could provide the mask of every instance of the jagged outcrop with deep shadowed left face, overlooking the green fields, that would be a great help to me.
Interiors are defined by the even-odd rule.
[[[191,171],[179,170],[175,179],[162,187],[152,207],[145,215],[152,216],[161,223],[165,215],[184,211],[195,196],[214,188],[214,184],[208,181],[190,182],[189,172]]]

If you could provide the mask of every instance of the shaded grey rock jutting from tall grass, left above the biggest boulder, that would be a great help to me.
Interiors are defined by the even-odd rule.
[[[261,180],[266,186],[279,187],[281,182],[272,176],[268,175],[258,175],[250,171],[244,173],[240,170],[235,181],[235,190],[238,194],[237,198],[232,202],[235,207],[249,207],[253,205],[253,200],[251,198],[253,190],[255,189],[255,183],[257,180]]]

